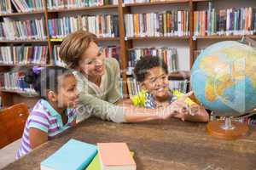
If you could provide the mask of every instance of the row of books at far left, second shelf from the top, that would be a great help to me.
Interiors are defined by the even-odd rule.
[[[0,40],[45,40],[44,19],[11,20],[3,18],[0,22]]]

